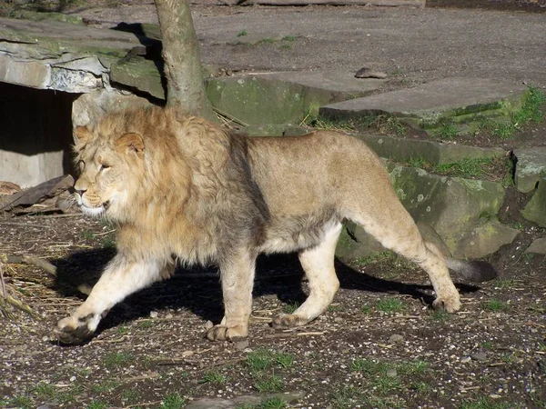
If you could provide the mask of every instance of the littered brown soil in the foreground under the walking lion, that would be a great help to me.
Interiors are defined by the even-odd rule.
[[[259,261],[248,343],[203,338],[207,321],[222,316],[211,267],[179,270],[117,305],[88,344],[63,347],[49,341],[50,330],[81,303],[74,286],[95,280],[112,257],[114,227],[37,209],[0,222],[2,252],[47,258],[72,284],[4,265],[6,281],[40,319],[15,312],[2,320],[2,406],[170,407],[161,404],[279,391],[302,395],[289,407],[546,404],[546,264],[523,254],[544,232],[532,226],[519,225],[519,241],[490,257],[500,279],[459,285],[460,314],[430,310],[425,274],[380,255],[338,264],[341,290],[328,311],[305,328],[275,331],[268,320],[307,291],[297,257],[287,255]],[[257,354],[266,364],[255,366]]]

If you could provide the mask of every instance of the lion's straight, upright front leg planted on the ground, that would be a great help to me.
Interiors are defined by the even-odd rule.
[[[238,250],[220,263],[224,319],[207,331],[210,341],[237,341],[248,336],[256,254]]]

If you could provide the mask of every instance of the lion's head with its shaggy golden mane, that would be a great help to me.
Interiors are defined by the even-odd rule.
[[[118,222],[157,224],[189,197],[214,198],[227,160],[220,128],[174,108],[111,113],[95,126],[77,126],[75,140],[78,205]]]

